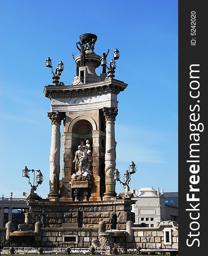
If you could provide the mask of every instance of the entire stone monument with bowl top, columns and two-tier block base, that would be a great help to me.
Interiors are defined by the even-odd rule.
[[[125,230],[129,227],[127,223],[134,222],[131,205],[135,202],[128,193],[116,196],[114,126],[117,95],[127,84],[114,79],[118,49],[114,50],[113,60],[107,67],[109,50],[102,57],[97,55],[94,52],[96,40],[94,34],[80,36],[76,44],[80,54],[73,56],[76,75],[72,84],[59,81],[64,69],[60,61],[55,73],[52,71],[54,85],[44,88],[44,95],[52,102],[48,113],[52,124],[49,194],[45,199],[28,197],[30,209],[18,231],[10,231],[12,224],[8,224],[8,241],[15,242],[15,246],[89,248],[92,241],[99,240],[101,248],[107,250],[112,249],[113,235],[122,235],[124,243],[121,245],[119,238],[118,246],[125,246]],[[95,69],[100,65],[102,74],[98,76]],[[52,68],[50,58],[46,60],[46,67]],[[128,188],[127,182],[125,184]],[[24,239],[16,242],[16,236]]]

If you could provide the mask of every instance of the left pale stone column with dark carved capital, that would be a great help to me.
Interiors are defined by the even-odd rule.
[[[64,119],[64,113],[55,111],[48,113],[52,124],[51,149],[50,149],[50,192],[48,198],[60,198],[59,194],[59,176],[60,176],[60,147],[61,134],[60,125],[61,120]]]

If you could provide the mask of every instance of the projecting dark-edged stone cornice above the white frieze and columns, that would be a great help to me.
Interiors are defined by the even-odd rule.
[[[104,93],[118,94],[123,91],[128,84],[116,79],[108,79],[101,82],[95,82],[82,85],[47,85],[44,88],[44,95],[46,98],[52,100],[53,98],[72,98],[84,97],[91,95],[100,95]]]

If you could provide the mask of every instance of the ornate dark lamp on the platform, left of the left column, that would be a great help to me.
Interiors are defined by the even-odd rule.
[[[24,167],[22,172],[23,172],[22,177],[28,178],[29,179],[28,184],[31,186],[29,199],[39,200],[40,197],[38,196],[38,194],[35,193],[35,191],[37,190],[38,185],[40,185],[43,182],[43,174],[42,174],[42,172],[40,172],[40,170],[34,170],[34,169],[29,170],[27,168],[27,166]],[[29,172],[33,172],[34,173],[33,184],[30,182]],[[36,177],[35,177],[35,172],[38,172]]]

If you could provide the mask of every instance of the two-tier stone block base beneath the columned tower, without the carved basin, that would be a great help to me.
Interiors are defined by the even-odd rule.
[[[127,221],[135,221],[131,199],[116,201],[28,201],[29,212],[20,231],[9,232],[6,246],[90,247],[99,237],[99,223],[106,230],[126,230]],[[34,232],[34,230],[36,230]],[[34,232],[33,236],[24,236]],[[19,236],[18,236],[19,233]],[[35,236],[34,236],[35,235]],[[119,238],[125,246],[125,235]]]

